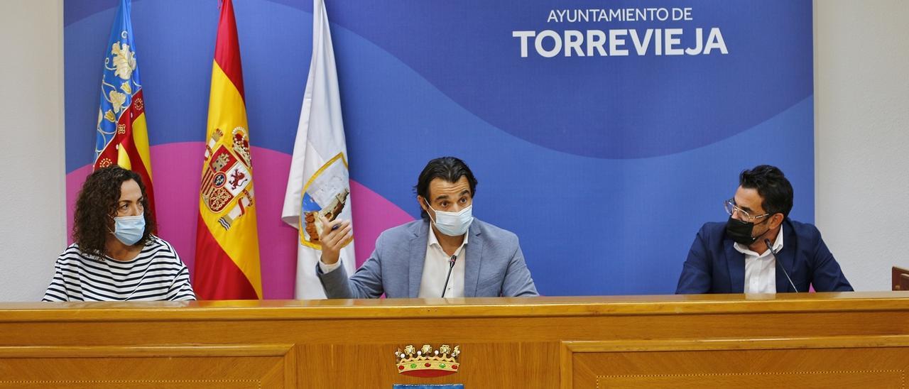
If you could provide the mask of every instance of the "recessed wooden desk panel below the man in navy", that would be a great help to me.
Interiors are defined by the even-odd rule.
[[[562,358],[564,388],[903,388],[909,336],[566,342]]]

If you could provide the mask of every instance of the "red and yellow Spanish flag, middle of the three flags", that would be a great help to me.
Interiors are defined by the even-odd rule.
[[[262,298],[253,167],[234,5],[221,4],[195,237],[199,299]]]

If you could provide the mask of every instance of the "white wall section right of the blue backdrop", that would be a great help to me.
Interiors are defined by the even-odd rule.
[[[814,2],[815,214],[855,290],[909,267],[909,2]]]

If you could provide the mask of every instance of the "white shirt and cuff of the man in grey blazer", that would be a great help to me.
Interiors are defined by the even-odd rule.
[[[457,259],[454,261],[451,279],[448,281],[448,287],[445,288],[445,297],[464,297],[464,260],[467,253],[464,246],[467,245],[467,236],[464,234],[464,242],[454,250]],[[445,254],[442,244],[435,238],[435,233],[430,227],[429,238],[426,239],[426,256],[423,263],[423,277],[420,278],[420,292],[417,297],[441,297],[442,288],[445,287],[445,277],[448,275],[449,260],[451,256]],[[331,272],[341,266],[341,260],[334,264],[325,264],[319,260],[319,268],[322,273]]]

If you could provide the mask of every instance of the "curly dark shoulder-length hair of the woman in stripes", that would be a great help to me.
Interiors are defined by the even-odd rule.
[[[105,242],[111,234],[117,205],[120,203],[120,186],[133,180],[142,191],[142,207],[145,214],[145,233],[136,244],[145,244],[155,231],[155,218],[148,207],[148,197],[142,178],[131,170],[118,165],[110,165],[88,175],[79,197],[75,200],[73,217],[73,240],[79,244],[83,253],[104,256]]]

